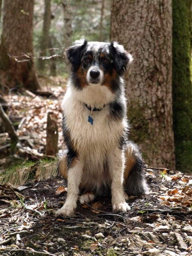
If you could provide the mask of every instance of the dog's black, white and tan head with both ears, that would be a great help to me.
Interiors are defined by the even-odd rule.
[[[117,42],[88,42],[84,39],[67,48],[66,55],[78,89],[104,85],[113,92],[117,89],[117,80],[133,59]]]

